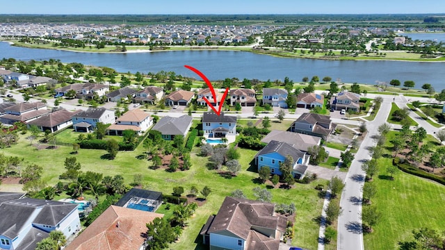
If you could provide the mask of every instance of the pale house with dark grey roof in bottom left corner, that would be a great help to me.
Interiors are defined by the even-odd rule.
[[[57,230],[66,238],[81,230],[77,204],[0,192],[0,249],[33,250]]]

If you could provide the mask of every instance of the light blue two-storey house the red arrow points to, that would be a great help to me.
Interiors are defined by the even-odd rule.
[[[202,130],[205,138],[232,138],[236,137],[236,116],[213,112],[202,115]]]

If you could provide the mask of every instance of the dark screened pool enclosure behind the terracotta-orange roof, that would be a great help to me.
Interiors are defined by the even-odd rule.
[[[129,192],[115,203],[115,206],[156,212],[162,204],[162,193],[140,188],[131,188]]]

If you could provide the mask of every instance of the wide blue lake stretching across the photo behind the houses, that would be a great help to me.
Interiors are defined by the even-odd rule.
[[[243,51],[163,51],[149,53],[80,53],[53,49],[28,49],[13,47],[0,42],[0,58],[17,60],[59,59],[63,63],[82,63],[111,67],[118,72],[176,72],[183,76],[199,78],[184,65],[191,65],[204,73],[211,81],[225,78],[257,78],[301,81],[304,76],[332,77],[343,83],[366,83],[376,81],[389,83],[398,79],[407,80],[421,88],[430,83],[435,90],[445,89],[445,63],[420,63],[398,61],[340,61],[312,60],[302,58],[277,58]]]

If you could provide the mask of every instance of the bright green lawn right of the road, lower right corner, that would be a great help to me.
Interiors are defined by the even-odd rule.
[[[398,249],[397,242],[412,240],[413,229],[445,230],[445,187],[400,171],[394,181],[389,181],[389,164],[390,158],[382,158],[380,173],[374,178],[378,192],[371,206],[377,206],[382,218],[373,233],[364,235],[365,249]]]

